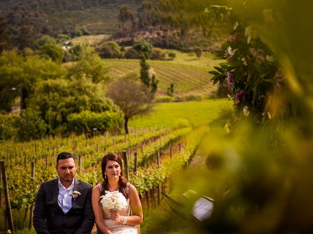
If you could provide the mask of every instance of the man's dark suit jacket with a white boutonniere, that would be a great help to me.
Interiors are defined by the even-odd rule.
[[[75,178],[73,191],[81,193],[64,214],[58,204],[58,178],[40,185],[35,199],[33,226],[37,234],[90,234],[94,224],[92,185]]]

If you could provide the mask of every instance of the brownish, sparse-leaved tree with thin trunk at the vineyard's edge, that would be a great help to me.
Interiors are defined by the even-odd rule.
[[[134,73],[118,78],[107,91],[108,97],[119,106],[124,114],[124,129],[128,134],[128,120],[135,115],[143,115],[151,111],[153,103],[145,87],[138,82]]]

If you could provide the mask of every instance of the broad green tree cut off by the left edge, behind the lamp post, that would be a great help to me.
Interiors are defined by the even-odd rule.
[[[55,79],[66,75],[60,64],[38,56],[19,55],[16,51],[2,51],[0,55],[0,109],[10,111],[12,101],[20,96],[21,110],[26,99],[34,92],[40,80]]]

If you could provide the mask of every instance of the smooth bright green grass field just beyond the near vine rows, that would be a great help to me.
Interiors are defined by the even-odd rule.
[[[221,107],[231,106],[226,99],[208,101],[189,101],[159,103],[148,116],[137,116],[130,120],[130,127],[171,126],[189,122],[194,125],[205,124],[219,116]]]

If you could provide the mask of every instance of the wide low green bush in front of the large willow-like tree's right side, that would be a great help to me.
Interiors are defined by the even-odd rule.
[[[120,112],[105,111],[95,113],[91,111],[83,111],[74,113],[67,117],[68,127],[76,132],[92,132],[94,128],[101,131],[107,131],[114,126],[123,124],[123,117]]]

